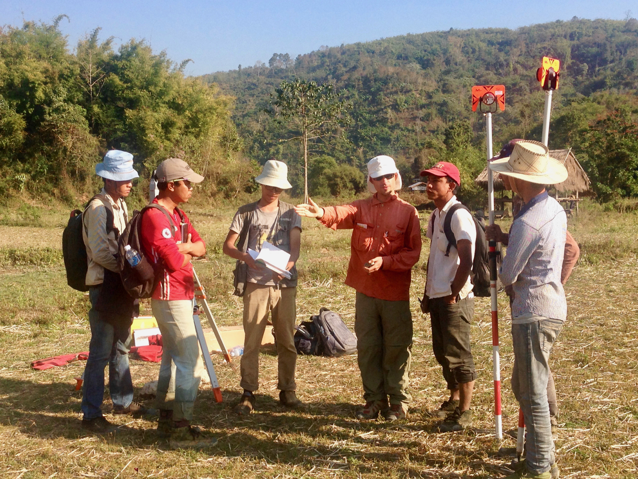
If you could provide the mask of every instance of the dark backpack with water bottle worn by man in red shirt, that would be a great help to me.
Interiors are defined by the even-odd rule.
[[[122,278],[122,284],[124,289],[128,292],[131,298],[138,300],[142,298],[151,298],[155,288],[159,282],[159,275],[156,274],[156,270],[159,272],[161,268],[161,260],[155,266],[151,265],[151,262],[147,259],[142,252],[141,241],[141,228],[142,228],[142,215],[149,209],[159,209],[167,217],[168,224],[173,225],[174,222],[168,215],[168,211],[159,204],[151,203],[142,208],[142,211],[133,211],[133,217],[126,225],[126,229],[119,236],[117,241],[117,264],[120,268],[120,277]],[[177,208],[179,217],[184,221],[184,214],[181,209]],[[171,236],[175,236],[175,229],[170,228]],[[126,250],[124,247],[129,245],[132,249],[137,250],[138,254],[142,258],[141,261],[133,268],[128,261],[126,261]]]

